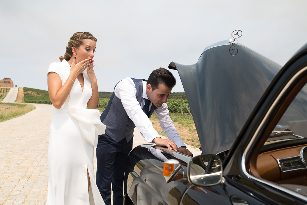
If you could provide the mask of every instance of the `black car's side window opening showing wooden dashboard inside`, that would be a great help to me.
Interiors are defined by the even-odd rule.
[[[281,119],[257,157],[262,179],[307,196],[307,85]]]

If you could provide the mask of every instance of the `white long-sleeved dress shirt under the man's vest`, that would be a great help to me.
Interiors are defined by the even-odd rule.
[[[126,113],[138,128],[144,140],[152,143],[154,138],[160,137],[159,133],[153,128],[151,121],[142,110],[142,107],[145,105],[145,99],[148,99],[146,94],[146,81],[143,81],[143,96],[141,105],[136,99],[135,84],[130,77],[123,79],[115,86],[114,94],[122,101],[122,105],[125,108]],[[152,102],[149,105],[149,110],[151,105]],[[172,119],[169,117],[169,110],[167,109],[166,103],[163,103],[160,108],[155,110],[155,112],[160,126],[166,136],[170,140],[173,140],[178,148],[182,146],[186,148],[173,124]]]

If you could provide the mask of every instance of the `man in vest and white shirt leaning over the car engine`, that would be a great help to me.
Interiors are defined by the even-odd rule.
[[[124,172],[135,127],[147,142],[193,156],[169,117],[166,101],[175,84],[173,74],[159,68],[150,74],[147,82],[127,77],[115,86],[109,104],[100,116],[107,129],[99,136],[96,148],[96,183],[106,205],[111,205],[111,183],[113,204],[123,204]],[[169,140],[162,139],[153,128],[149,120],[153,111]]]

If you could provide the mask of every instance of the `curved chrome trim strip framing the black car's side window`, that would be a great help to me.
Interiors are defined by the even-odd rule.
[[[263,120],[261,121],[260,125],[258,126],[256,132],[254,133],[251,141],[248,143],[246,149],[244,150],[243,152],[243,156],[242,156],[242,160],[241,160],[241,167],[242,167],[242,171],[243,173],[248,177],[248,178],[251,178],[251,179],[254,179],[258,182],[261,182],[261,183],[264,183],[268,186],[271,186],[271,187],[274,187],[276,189],[279,189],[281,191],[284,191],[290,195],[293,195],[301,200],[304,200],[304,201],[307,201],[307,197],[304,196],[304,195],[301,195],[301,194],[298,194],[297,192],[294,192],[294,191],[291,191],[289,189],[286,189],[284,187],[281,187],[281,186],[278,186],[276,184],[273,184],[273,183],[270,183],[268,181],[264,181],[262,179],[258,179],[252,175],[250,175],[248,172],[247,172],[247,169],[245,167],[245,158],[246,158],[246,155],[247,155],[247,152],[248,150],[251,148],[251,145],[255,142],[255,139],[256,137],[258,136],[259,132],[260,132],[260,129],[262,128],[263,124],[265,123],[265,121],[267,120],[267,118],[269,117],[269,115],[271,114],[272,110],[274,109],[274,107],[276,106],[277,102],[280,100],[280,98],[284,95],[284,93],[286,92],[286,90],[289,88],[289,86],[293,83],[294,80],[297,79],[297,77],[299,77],[301,75],[301,73],[303,73],[304,71],[307,70],[307,66],[304,67],[303,69],[301,69],[299,72],[297,72],[291,79],[290,81],[287,83],[287,85],[282,89],[282,91],[279,93],[278,97],[276,98],[276,100],[274,101],[274,103],[272,104],[272,106],[270,107],[269,111],[266,113],[266,115],[264,116]]]

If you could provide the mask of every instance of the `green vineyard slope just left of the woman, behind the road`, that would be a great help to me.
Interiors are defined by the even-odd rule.
[[[25,103],[51,104],[48,91],[46,90],[23,88],[23,94],[23,101]]]

